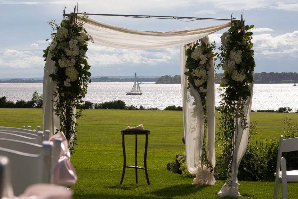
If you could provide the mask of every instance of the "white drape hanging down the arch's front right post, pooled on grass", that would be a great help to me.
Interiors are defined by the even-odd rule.
[[[253,72],[251,74],[253,75]],[[239,168],[240,162],[246,151],[246,147],[248,143],[253,87],[254,87],[254,83],[252,82],[249,84],[249,90],[251,91],[251,96],[246,99],[246,105],[244,107],[244,115],[246,115],[246,121],[248,123],[248,127],[245,130],[241,128],[240,118],[238,119],[238,135],[235,143],[236,145],[235,151],[233,154],[232,173],[230,174],[232,184],[231,186],[228,186],[227,183],[224,183],[224,186],[217,193],[219,196],[233,196],[233,197],[240,196],[240,193],[238,192],[239,183],[237,179],[237,174],[238,174],[238,168]]]

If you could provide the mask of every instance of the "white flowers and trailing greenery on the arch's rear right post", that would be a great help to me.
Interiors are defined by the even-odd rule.
[[[210,60],[213,59],[215,50],[215,42],[207,45],[205,42],[201,41],[194,44],[192,47],[188,44],[188,49],[186,50],[186,65],[188,69],[184,74],[187,75],[188,87],[190,85],[198,91],[201,97],[201,102],[204,110],[204,139],[203,148],[201,155],[201,163],[206,164],[207,168],[210,168],[210,172],[214,171],[212,165],[208,161],[206,146],[206,133],[207,133],[207,103],[206,103],[206,93],[207,93],[207,81],[208,72],[210,70]],[[190,92],[191,93],[191,92]]]

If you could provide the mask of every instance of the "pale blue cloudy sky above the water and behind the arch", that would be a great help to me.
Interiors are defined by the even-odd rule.
[[[45,39],[51,38],[51,19],[62,20],[62,11],[79,13],[190,16],[240,19],[255,25],[253,43],[255,72],[298,72],[297,0],[0,0],[0,78],[43,77]],[[98,21],[135,30],[169,31],[223,23],[90,16]],[[227,29],[210,35],[220,46]],[[114,49],[89,43],[88,62],[92,76],[162,76],[180,74],[180,48],[156,50]],[[219,71],[222,72],[222,71]]]

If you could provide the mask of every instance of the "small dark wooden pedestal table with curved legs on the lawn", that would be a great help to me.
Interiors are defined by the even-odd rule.
[[[122,177],[120,184],[123,182],[124,174],[125,174],[125,168],[133,168],[136,170],[136,183],[138,183],[138,169],[145,170],[145,175],[147,179],[148,185],[150,185],[148,172],[147,172],[147,149],[148,149],[148,135],[150,134],[150,130],[133,130],[133,129],[125,129],[120,130],[122,134],[122,149],[123,149],[123,171],[122,171]],[[136,162],[135,166],[126,166],[126,155],[125,155],[125,145],[124,145],[124,135],[135,135],[136,136]],[[138,135],[145,135],[146,141],[145,141],[145,153],[144,153],[144,168],[138,167]]]

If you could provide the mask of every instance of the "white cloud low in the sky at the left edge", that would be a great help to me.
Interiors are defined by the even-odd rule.
[[[0,52],[0,68],[38,68],[44,65],[39,52],[5,49]]]

